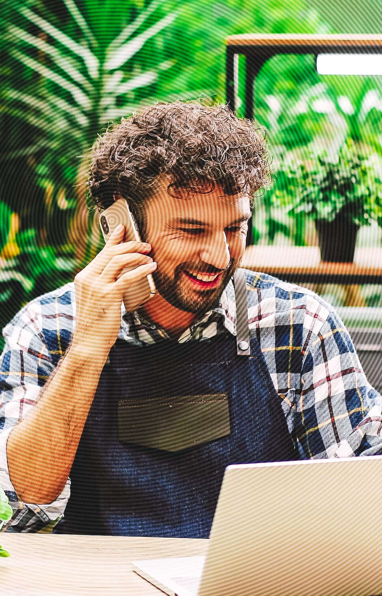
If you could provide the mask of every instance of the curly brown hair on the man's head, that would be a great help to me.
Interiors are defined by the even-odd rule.
[[[157,103],[100,136],[92,147],[89,206],[103,210],[118,193],[139,209],[166,175],[167,190],[227,195],[268,187],[266,131],[239,119],[226,105],[201,101]]]

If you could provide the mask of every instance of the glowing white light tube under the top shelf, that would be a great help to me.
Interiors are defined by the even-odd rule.
[[[382,54],[318,54],[319,75],[382,75]]]

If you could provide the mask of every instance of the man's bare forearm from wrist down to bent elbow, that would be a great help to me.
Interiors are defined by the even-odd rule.
[[[18,496],[47,504],[63,490],[107,353],[72,345],[33,410],[10,433],[7,460]]]

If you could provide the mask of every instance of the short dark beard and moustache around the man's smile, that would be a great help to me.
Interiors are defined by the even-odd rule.
[[[222,279],[220,280],[220,284],[211,290],[192,290],[190,285],[187,284],[184,275],[182,275],[184,269],[188,271],[203,271],[203,267],[198,268],[193,263],[181,263],[181,265],[178,265],[174,269],[173,277],[163,272],[155,271],[153,278],[158,293],[166,302],[169,302],[170,305],[175,306],[180,311],[203,316],[204,313],[218,306],[223,290],[225,290],[226,285],[231,280],[232,275],[234,275],[239,265],[240,261],[235,263],[234,259],[231,259],[228,267],[221,274]],[[212,274],[212,272],[210,273]]]

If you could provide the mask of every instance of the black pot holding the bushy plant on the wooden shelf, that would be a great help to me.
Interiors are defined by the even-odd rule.
[[[353,262],[359,225],[353,223],[349,213],[341,210],[331,222],[316,219],[315,226],[322,261]]]

